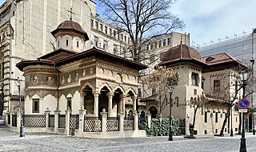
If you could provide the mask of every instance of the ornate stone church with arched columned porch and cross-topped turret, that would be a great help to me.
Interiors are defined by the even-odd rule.
[[[108,119],[138,119],[138,71],[146,65],[96,48],[82,51],[89,38],[75,21],[63,21],[51,33],[54,52],[16,65],[25,76],[25,115],[76,115],[86,109],[91,118],[104,111]]]

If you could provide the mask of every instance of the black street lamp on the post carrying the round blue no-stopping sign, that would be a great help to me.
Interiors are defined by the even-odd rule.
[[[240,72],[240,78],[242,80],[242,98],[246,98],[246,80],[247,80],[247,72],[246,70],[242,70]],[[245,134],[245,123],[244,123],[245,114],[242,112],[242,138],[240,142],[240,152],[246,151],[246,134]]]

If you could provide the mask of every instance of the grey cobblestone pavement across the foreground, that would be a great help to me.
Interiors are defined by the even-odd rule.
[[[90,139],[62,136],[56,134],[29,134],[20,138],[19,133],[0,127],[0,151],[92,151],[92,152],[238,152],[240,135],[234,137],[197,136],[187,139],[175,136],[169,142],[168,137]],[[256,135],[246,134],[247,152],[256,151]]]

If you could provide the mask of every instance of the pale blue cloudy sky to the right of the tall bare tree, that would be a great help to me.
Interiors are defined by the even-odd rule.
[[[251,33],[256,27],[255,6],[256,0],[178,0],[171,12],[186,23],[177,32],[190,33],[191,45],[203,45]]]

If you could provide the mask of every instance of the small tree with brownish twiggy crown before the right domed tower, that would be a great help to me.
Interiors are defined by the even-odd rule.
[[[178,85],[178,72],[172,68],[158,67],[149,76],[145,76],[144,80],[149,88],[155,88],[158,102],[159,112],[165,107],[165,102],[168,100],[169,92]]]

